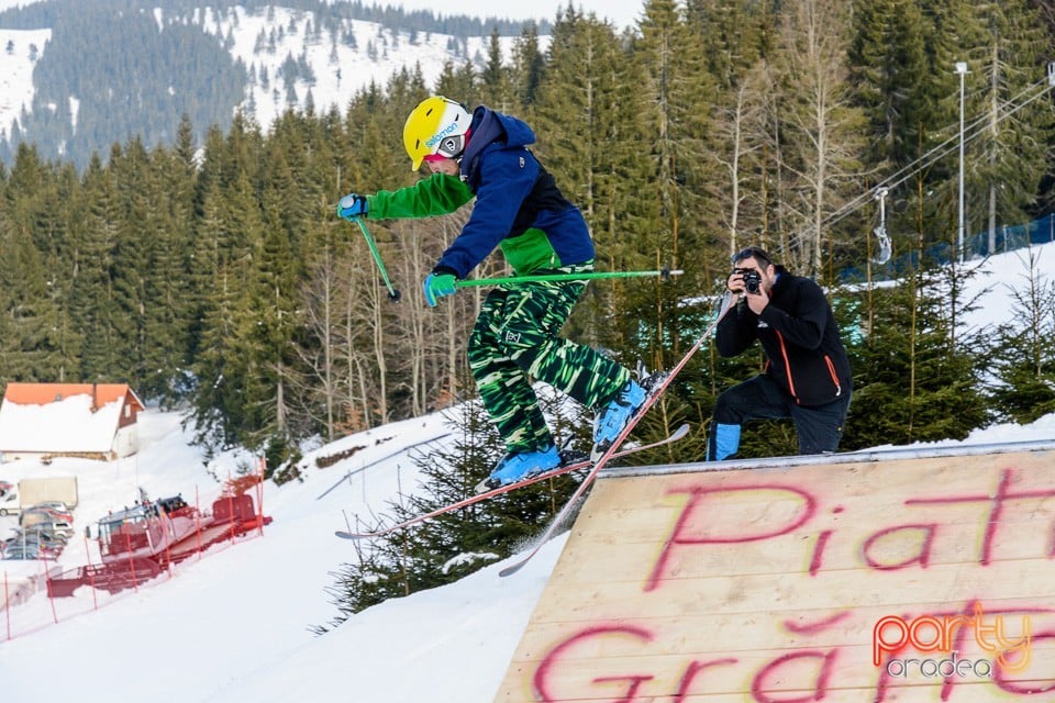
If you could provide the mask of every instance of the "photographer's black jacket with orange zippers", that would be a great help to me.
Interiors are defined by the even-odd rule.
[[[853,390],[849,359],[832,306],[809,278],[777,267],[769,304],[756,315],[745,301],[719,323],[718,353],[736,356],[758,339],[766,373],[800,405],[823,405]]]

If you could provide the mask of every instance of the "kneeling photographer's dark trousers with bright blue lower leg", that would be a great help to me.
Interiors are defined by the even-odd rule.
[[[851,393],[826,403],[799,405],[768,376],[760,373],[718,397],[708,433],[707,460],[721,461],[740,447],[741,425],[752,420],[790,417],[799,438],[799,454],[835,451],[843,436]]]

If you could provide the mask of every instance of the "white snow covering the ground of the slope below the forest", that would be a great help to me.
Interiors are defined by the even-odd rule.
[[[1055,244],[1033,250],[1040,270],[1055,270]],[[1024,260],[1020,250],[975,264],[980,275],[966,293],[981,298],[967,325],[1003,321],[1013,306],[1011,287],[1023,283]],[[66,411],[77,412],[73,405]],[[190,446],[180,421],[157,410],[141,415],[141,451],[121,461],[3,464],[0,479],[76,472],[75,527],[81,533],[107,511],[134,501],[140,487],[152,498],[181,493],[207,505],[219,493],[219,480],[254,459],[226,453],[207,460]],[[37,431],[55,432],[63,423],[38,423]],[[274,522],[263,536],[214,547],[137,591],[99,593],[96,600],[82,588],[57,599],[54,610],[41,594],[0,607],[3,700],[45,700],[60,678],[77,703],[140,700],[145,692],[159,703],[490,703],[567,533],[512,577],[498,574],[508,562],[492,565],[457,583],[367,609],[326,635],[310,632],[336,615],[325,589],[331,572],[355,559],[357,543],[337,539],[333,531],[345,528],[346,517],[385,515],[401,489],[415,490],[418,470],[406,449],[445,442],[447,432],[445,416],[431,414],[308,450],[302,480],[265,484],[264,512]],[[1053,439],[1055,413],[1028,426],[996,425],[964,442],[926,446]],[[351,456],[316,468],[315,459],[344,451]],[[0,517],[0,534],[12,524]],[[91,544],[71,543],[59,565],[82,563]],[[0,594],[43,568],[0,561]]]

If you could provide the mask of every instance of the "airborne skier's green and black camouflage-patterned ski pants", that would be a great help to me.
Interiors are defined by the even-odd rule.
[[[592,266],[533,274],[568,274]],[[630,371],[592,348],[558,337],[582,281],[500,286],[484,301],[468,342],[469,368],[509,451],[548,446],[553,438],[531,378],[553,386],[587,408],[619,392]]]

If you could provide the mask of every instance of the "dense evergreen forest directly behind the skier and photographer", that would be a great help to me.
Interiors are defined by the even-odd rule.
[[[347,192],[420,178],[402,125],[438,92],[533,126],[590,223],[599,270],[684,270],[592,283],[573,338],[669,368],[712,319],[730,255],[760,245],[835,303],[855,373],[843,449],[1055,411],[1050,272],[1026,271],[1000,330],[968,333],[969,267],[943,266],[957,260],[960,80],[968,232],[1052,210],[1050,8],[648,0],[642,18],[617,33],[569,8],[545,52],[529,25],[511,62],[492,40],[482,68],[451,63],[436,85],[408,68],[343,110],[266,127],[185,112],[170,144],[134,134],[84,168],[21,142],[0,166],[0,381],[126,381],[187,408],[203,445],[243,445],[275,468],[308,438],[474,398],[464,345],[487,289],[435,309],[421,294],[471,205],[366,221],[398,303],[362,233],[335,216]],[[881,187],[897,286],[874,264]],[[507,274],[500,255],[476,272]],[[699,459],[717,393],[760,368],[760,353],[704,347],[640,434],[689,422],[663,459]],[[793,429],[749,429],[742,451],[791,454]]]

